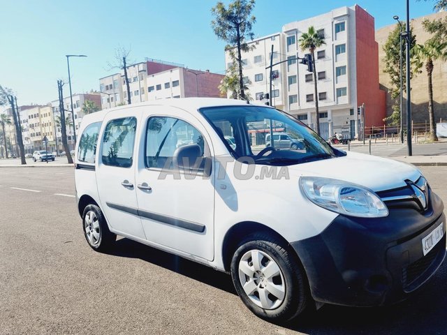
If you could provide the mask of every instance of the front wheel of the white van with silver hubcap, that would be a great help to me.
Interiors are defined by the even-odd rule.
[[[299,260],[269,234],[255,234],[242,241],[233,255],[230,271],[237,294],[260,318],[286,322],[312,305]]]

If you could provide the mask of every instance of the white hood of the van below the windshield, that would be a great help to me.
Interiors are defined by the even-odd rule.
[[[349,181],[372,191],[386,191],[406,186],[422,174],[408,163],[349,151],[346,156],[288,166],[299,177],[325,177]]]

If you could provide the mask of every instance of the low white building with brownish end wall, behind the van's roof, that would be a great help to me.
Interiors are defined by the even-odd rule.
[[[223,75],[155,59],[127,66],[131,103],[190,96],[219,97]],[[117,81],[117,78],[120,78]],[[124,70],[99,79],[103,109],[127,103]]]

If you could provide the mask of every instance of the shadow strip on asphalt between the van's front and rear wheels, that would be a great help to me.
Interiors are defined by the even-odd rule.
[[[118,239],[112,250],[108,251],[108,254],[117,257],[139,258],[145,262],[175,271],[177,274],[182,274],[182,276],[211,285],[219,290],[237,295],[231,277],[228,274],[131,239]]]

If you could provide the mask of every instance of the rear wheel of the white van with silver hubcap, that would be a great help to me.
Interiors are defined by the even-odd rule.
[[[87,243],[94,251],[110,250],[117,235],[110,232],[103,212],[96,204],[89,204],[82,213],[82,230]]]

